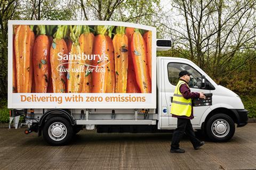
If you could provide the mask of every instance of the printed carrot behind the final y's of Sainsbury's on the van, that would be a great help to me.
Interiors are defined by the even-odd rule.
[[[107,40],[105,33],[107,26],[95,26],[97,36],[94,37],[92,53],[95,54],[95,60],[92,60],[94,70],[92,71],[92,93],[105,93],[107,87]],[[98,57],[101,56],[101,59]]]

